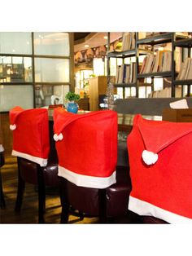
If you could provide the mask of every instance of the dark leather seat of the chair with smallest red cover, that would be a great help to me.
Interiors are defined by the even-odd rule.
[[[58,165],[56,163],[48,163],[46,167],[42,167],[46,186],[58,187]],[[27,183],[37,184],[37,164],[20,158],[20,174]]]

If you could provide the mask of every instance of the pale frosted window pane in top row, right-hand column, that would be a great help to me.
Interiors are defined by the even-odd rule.
[[[54,32],[34,33],[35,55],[69,56],[69,34]]]

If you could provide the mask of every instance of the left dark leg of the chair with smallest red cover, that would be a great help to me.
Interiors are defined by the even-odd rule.
[[[20,212],[23,197],[24,197],[24,187],[25,182],[24,179],[22,179],[20,174],[20,157],[17,157],[17,166],[18,166],[18,187],[17,187],[17,198],[15,203],[15,211]]]

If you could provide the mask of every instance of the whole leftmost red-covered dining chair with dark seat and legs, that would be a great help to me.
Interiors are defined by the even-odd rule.
[[[21,210],[25,183],[33,183],[38,191],[38,222],[44,223],[46,187],[59,188],[58,159],[50,150],[53,135],[49,129],[47,109],[24,110],[17,106],[10,111],[10,123],[12,155],[17,157],[18,163],[15,211]]]

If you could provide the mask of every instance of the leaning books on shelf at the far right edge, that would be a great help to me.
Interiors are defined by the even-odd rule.
[[[186,58],[181,64],[180,73],[177,76],[177,80],[190,80],[192,79],[192,59]]]

